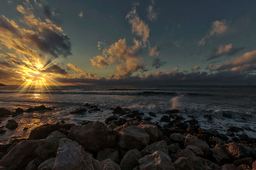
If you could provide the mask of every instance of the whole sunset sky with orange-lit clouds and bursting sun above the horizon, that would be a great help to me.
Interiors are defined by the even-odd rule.
[[[255,7],[1,0],[0,83],[256,85]]]

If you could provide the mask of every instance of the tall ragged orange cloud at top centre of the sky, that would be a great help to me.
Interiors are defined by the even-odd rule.
[[[135,32],[135,34],[142,37],[144,47],[146,47],[149,37],[149,28],[143,20],[140,20],[138,13],[136,12],[136,5],[133,7],[132,11],[128,12],[126,18],[128,18],[129,23],[132,24],[132,32]]]

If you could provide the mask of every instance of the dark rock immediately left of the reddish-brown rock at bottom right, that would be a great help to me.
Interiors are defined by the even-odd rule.
[[[224,148],[211,148],[210,150],[212,158],[214,158],[217,163],[230,163],[230,155],[226,150],[224,150]]]

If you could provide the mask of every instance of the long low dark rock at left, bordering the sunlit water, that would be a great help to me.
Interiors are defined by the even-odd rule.
[[[45,124],[40,125],[37,128],[34,128],[31,133],[29,134],[30,140],[37,140],[37,139],[45,139],[47,136],[52,133],[53,131],[60,131],[62,133],[63,130],[69,130],[75,124]]]

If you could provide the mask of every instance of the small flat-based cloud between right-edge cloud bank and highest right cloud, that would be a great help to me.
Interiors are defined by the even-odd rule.
[[[233,48],[232,44],[229,45],[219,45],[216,49],[214,49],[214,55],[212,55],[210,58],[207,59],[207,61],[214,59],[214,58],[219,58],[222,55],[234,55],[238,53],[239,51],[244,50],[244,47],[238,47],[238,48]]]

